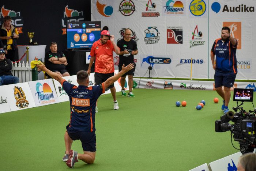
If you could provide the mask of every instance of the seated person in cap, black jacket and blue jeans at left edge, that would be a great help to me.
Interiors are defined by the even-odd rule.
[[[19,78],[12,76],[12,65],[12,61],[5,58],[5,50],[0,49],[0,86],[19,83]]]

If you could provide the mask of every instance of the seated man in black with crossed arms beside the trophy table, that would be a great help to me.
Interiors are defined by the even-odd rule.
[[[70,76],[66,70],[67,59],[63,52],[57,51],[57,43],[50,44],[50,51],[45,54],[45,66],[60,76]]]

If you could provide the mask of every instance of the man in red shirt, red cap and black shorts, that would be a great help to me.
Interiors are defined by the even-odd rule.
[[[87,70],[87,73],[90,75],[91,66],[95,60],[95,85],[103,83],[109,77],[114,75],[113,51],[116,52],[117,55],[120,53],[120,49],[114,42],[114,35],[110,35],[109,31],[103,30],[101,32],[101,39],[95,41],[91,47],[91,59]],[[114,110],[118,110],[119,107],[116,100],[116,88],[114,87],[114,83],[111,84],[108,88],[110,88],[114,100]],[[95,111],[98,112],[97,105]]]

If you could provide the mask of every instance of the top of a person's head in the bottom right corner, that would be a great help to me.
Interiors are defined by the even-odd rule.
[[[237,171],[256,171],[256,153],[246,153],[240,157]]]

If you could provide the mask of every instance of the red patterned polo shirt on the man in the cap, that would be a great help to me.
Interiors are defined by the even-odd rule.
[[[106,44],[101,44],[101,39],[95,41],[91,47],[91,56],[95,56],[95,72],[98,73],[113,73],[114,72],[114,59],[113,51],[114,46],[110,40]]]

